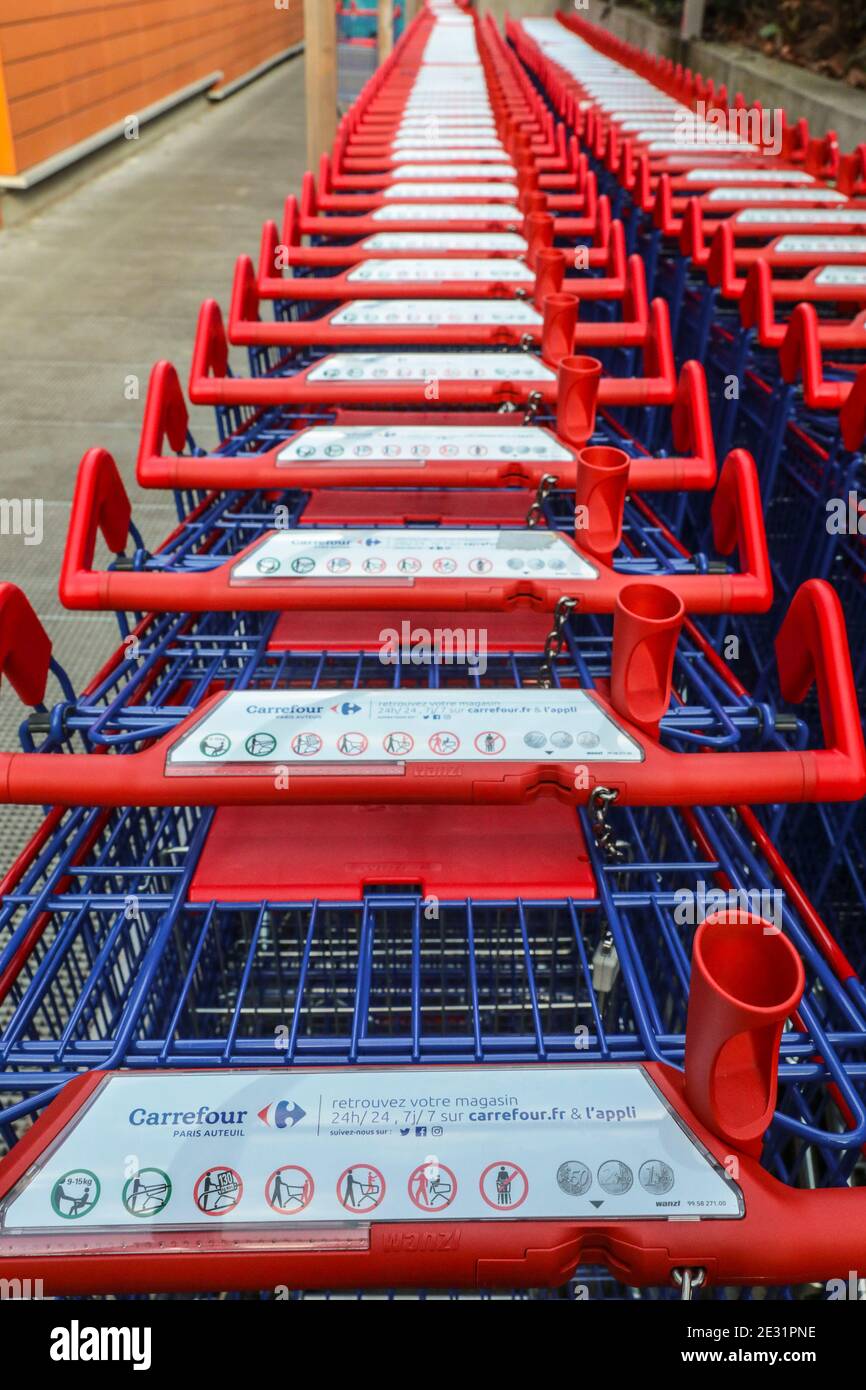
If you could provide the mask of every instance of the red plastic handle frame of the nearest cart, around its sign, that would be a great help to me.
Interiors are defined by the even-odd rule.
[[[580,1066],[580,1063],[575,1063]],[[303,1243],[260,1241],[232,1248],[231,1229],[218,1244],[202,1227],[175,1229],[164,1244],[149,1232],[146,1248],[90,1230],[53,1233],[51,1252],[26,1237],[0,1240],[4,1279],[43,1279],[56,1294],[195,1291],[225,1289],[545,1289],[562,1287],[581,1265],[602,1265],[630,1287],[670,1287],[701,1272],[705,1287],[805,1284],[862,1269],[866,1188],[796,1188],[774,1179],[748,1154],[731,1152],[689,1112],[683,1079],[648,1063],[646,1074],[720,1166],[737,1161],[741,1219],[701,1220],[491,1220],[377,1222],[363,1241],[335,1247],[313,1229]],[[74,1123],[110,1076],[85,1072],[70,1081],[0,1163],[0,1197]],[[145,1074],[145,1073],[138,1073]],[[206,1074],[206,1073],[203,1073]],[[277,1072],[274,1073],[277,1079]],[[285,1079],[285,1068],[279,1073]],[[495,1074],[495,1073],[493,1073]],[[74,1223],[71,1223],[74,1225]],[[249,1233],[247,1233],[249,1234]],[[83,1243],[82,1243],[83,1236]],[[206,1248],[203,1248],[206,1244]]]

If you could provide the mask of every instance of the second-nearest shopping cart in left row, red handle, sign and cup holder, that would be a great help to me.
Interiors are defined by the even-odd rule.
[[[22,699],[42,701],[50,644],[14,587],[4,592],[4,613],[11,614],[14,637],[6,649],[10,680]],[[363,794],[417,806],[431,799],[520,805],[544,794],[603,809],[612,802],[730,805],[744,794],[755,805],[863,795],[866,752],[844,620],[838,599],[822,581],[798,591],[780,630],[776,706],[769,701],[756,706],[748,694],[737,694],[723,659],[694,626],[680,642],[681,600],[646,584],[631,584],[619,595],[613,641],[595,626],[601,619],[588,619],[594,635],[573,638],[571,610],[562,605],[541,652],[530,638],[530,664],[538,676],[517,692],[507,637],[493,631],[493,651],[502,657],[485,656],[482,671],[480,648],[470,649],[467,631],[484,634],[484,614],[457,631],[456,644],[453,614],[448,617],[443,671],[435,632],[427,631],[421,642],[427,656],[406,657],[403,621],[406,645],[417,644],[413,614],[400,610],[392,610],[388,630],[373,621],[360,664],[357,642],[346,639],[345,614],[334,620],[332,648],[321,616],[313,623],[302,616],[295,628],[286,614],[277,649],[264,651],[263,644],[260,677],[247,670],[236,688],[228,688],[213,680],[209,655],[209,684],[183,685],[171,701],[163,681],[154,710],[133,708],[126,714],[128,666],[121,666],[121,685],[108,705],[92,709],[86,702],[81,723],[70,721],[67,702],[38,713],[49,742],[40,752],[0,755],[0,799],[336,806]],[[275,614],[264,621],[274,623]],[[22,634],[31,628],[38,638],[25,642]],[[569,644],[580,656],[577,678],[550,694],[553,656]],[[314,696],[300,695],[282,678],[295,651],[307,653]],[[322,655],[329,651],[332,657]],[[406,663],[418,673],[420,685],[403,678],[399,687],[382,685],[384,670],[402,673]],[[139,684],[146,667],[132,664],[131,688],[146,694],[149,685]],[[446,678],[452,669],[455,685]],[[183,662],[181,670],[188,671]],[[471,698],[460,694],[467,674]],[[368,687],[361,703],[353,694],[359,681]],[[250,699],[253,684],[267,689],[267,699]],[[805,710],[809,727],[785,705],[802,702],[813,684],[817,712]],[[352,719],[357,727],[349,728]],[[64,731],[71,741],[53,742]],[[95,756],[95,748],[111,756]]]

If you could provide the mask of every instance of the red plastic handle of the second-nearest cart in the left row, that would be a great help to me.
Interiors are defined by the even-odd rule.
[[[652,619],[652,605],[635,591],[657,594],[657,587],[631,584],[630,651],[641,641],[641,617]],[[617,599],[617,606],[619,606]],[[801,634],[803,646],[801,648]],[[613,666],[628,653],[613,649]],[[835,592],[822,580],[809,580],[792,603],[778,639],[783,692],[802,698],[817,682],[824,748],[780,752],[678,753],[660,744],[652,728],[634,721],[637,712],[657,708],[648,688],[649,670],[627,670],[617,688],[626,692],[626,713],[602,687],[587,699],[613,719],[641,751],[641,759],[620,753],[585,762],[450,762],[409,758],[375,760],[352,769],[322,762],[278,767],[274,763],[231,763],[202,769],[196,762],[171,760],[200,723],[231,695],[217,692],[178,728],[138,753],[96,758],[89,753],[0,753],[0,802],[15,805],[96,806],[218,806],[275,803],[514,803],[542,791],[573,805],[584,805],[596,787],[613,791],[621,805],[727,806],[799,801],[856,801],[866,794],[866,749],[858,717],[856,694]],[[662,664],[656,670],[663,676]],[[637,692],[637,695],[635,695]],[[635,699],[638,703],[635,705]],[[638,708],[639,706],[639,708]],[[649,723],[649,720],[648,720]],[[410,739],[411,745],[411,739]],[[431,777],[431,763],[438,771]],[[285,776],[282,776],[285,773]],[[580,776],[578,776],[580,774]]]

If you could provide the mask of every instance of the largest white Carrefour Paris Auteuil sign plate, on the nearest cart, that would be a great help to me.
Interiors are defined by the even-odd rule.
[[[136,1155],[133,1166],[129,1155]],[[15,1237],[209,1226],[738,1219],[641,1066],[111,1073],[0,1207]]]

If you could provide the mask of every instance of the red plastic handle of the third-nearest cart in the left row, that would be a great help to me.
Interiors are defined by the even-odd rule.
[[[174,396],[175,407],[177,399]],[[158,432],[158,424],[149,427],[147,434],[154,442]],[[161,613],[332,610],[343,606],[381,610],[392,607],[395,599],[405,599],[416,609],[477,607],[491,612],[518,602],[532,602],[553,612],[566,585],[571,596],[580,595],[584,612],[610,613],[617,595],[631,582],[630,575],[617,573],[610,564],[621,531],[631,460],[619,449],[589,449],[585,470],[588,475],[592,467],[589,456],[606,459],[610,455],[616,455],[620,464],[616,480],[610,473],[603,474],[601,484],[592,491],[592,506],[584,507],[591,530],[581,525],[575,531],[575,549],[595,567],[594,580],[566,581],[559,577],[530,581],[516,577],[492,581],[480,575],[386,581],[289,578],[263,584],[236,580],[235,570],[245,557],[267,543],[271,532],[263,532],[239,555],[209,571],[95,570],[99,531],[115,555],[125,549],[131,503],[111,455],[104,449],[89,449],[81,461],[75,484],[60,596],[70,609],[153,609]],[[578,455],[577,496],[578,500],[587,500],[587,489],[581,486],[584,480],[580,460]],[[720,555],[731,555],[737,549],[741,573],[646,575],[646,584],[680,595],[692,613],[766,612],[773,598],[773,582],[758,473],[752,456],[744,449],[734,450],[726,460],[712,503],[712,523],[716,549]],[[295,534],[303,535],[303,530],[302,527]]]

